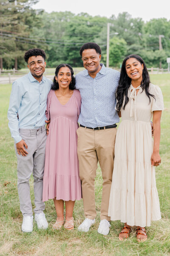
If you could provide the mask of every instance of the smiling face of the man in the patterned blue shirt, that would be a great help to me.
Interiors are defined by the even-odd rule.
[[[96,75],[100,71],[100,60],[101,54],[95,49],[85,49],[82,52],[83,66],[88,70],[89,75]]]

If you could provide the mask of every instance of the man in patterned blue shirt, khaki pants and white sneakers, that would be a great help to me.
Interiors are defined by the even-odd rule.
[[[102,177],[102,203],[98,233],[107,235],[110,227],[108,204],[111,189],[116,122],[119,116],[116,107],[116,88],[120,73],[100,64],[101,49],[95,43],[86,43],[80,49],[85,70],[76,75],[76,89],[82,97],[80,127],[77,129],[79,174],[82,181],[82,198],[85,220],[79,231],[88,232],[95,223],[95,191],[99,161]]]

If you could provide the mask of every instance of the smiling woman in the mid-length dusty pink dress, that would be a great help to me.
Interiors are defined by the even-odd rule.
[[[43,201],[54,200],[57,220],[54,229],[74,229],[75,200],[82,198],[77,157],[77,128],[81,96],[75,90],[74,71],[60,64],[47,99],[47,119],[51,120],[46,142]]]

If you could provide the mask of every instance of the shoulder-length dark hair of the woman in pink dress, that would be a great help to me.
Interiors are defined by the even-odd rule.
[[[56,67],[55,76],[58,75],[59,70],[60,70],[61,67],[68,67],[69,70],[71,71],[71,83],[69,84],[69,89],[70,89],[70,90],[74,90],[74,89],[75,89],[75,77],[73,76],[73,75],[74,75],[73,68],[72,68],[69,64],[59,64],[59,65]],[[52,84],[52,86],[51,86],[51,90],[57,90],[57,89],[59,89],[59,83],[56,82],[55,76],[54,76],[54,79],[53,79],[53,84]]]

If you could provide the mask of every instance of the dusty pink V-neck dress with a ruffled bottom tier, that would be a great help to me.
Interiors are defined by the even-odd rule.
[[[48,93],[46,116],[51,119],[45,149],[42,200],[74,201],[82,198],[77,157],[77,128],[81,96],[74,90],[62,105],[55,91]]]

